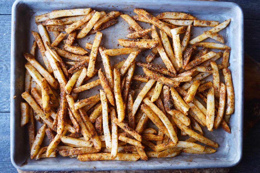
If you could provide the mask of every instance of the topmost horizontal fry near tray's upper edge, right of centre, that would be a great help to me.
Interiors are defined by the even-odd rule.
[[[196,17],[182,12],[162,12],[156,17],[158,19],[196,19]]]

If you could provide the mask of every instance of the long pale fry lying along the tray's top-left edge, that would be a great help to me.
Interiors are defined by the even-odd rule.
[[[55,10],[50,13],[42,14],[35,16],[35,22],[42,22],[48,19],[54,19],[58,17],[64,16],[79,16],[79,15],[87,15],[91,11],[90,8],[86,9],[72,9],[72,10]]]

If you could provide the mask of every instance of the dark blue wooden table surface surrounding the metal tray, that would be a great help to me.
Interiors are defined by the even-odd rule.
[[[260,170],[260,65],[258,63],[260,61],[260,3],[258,0],[223,1],[236,2],[244,11],[245,52],[248,55],[245,55],[243,158],[237,166],[230,169],[194,169],[176,170],[176,172],[257,172]],[[10,45],[13,2],[14,0],[0,2],[0,172],[17,171],[10,160]],[[173,170],[160,172],[173,172]]]

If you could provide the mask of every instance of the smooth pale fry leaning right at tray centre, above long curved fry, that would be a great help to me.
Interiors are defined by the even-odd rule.
[[[132,115],[134,116],[139,105],[141,104],[143,98],[147,94],[147,92],[152,88],[153,84],[155,83],[154,79],[150,79],[142,88],[142,90],[139,92],[138,96],[136,97],[134,104],[133,104],[133,109],[132,109]]]

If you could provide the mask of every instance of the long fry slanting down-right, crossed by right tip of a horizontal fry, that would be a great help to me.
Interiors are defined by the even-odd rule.
[[[172,62],[170,61],[170,59],[168,58],[163,46],[162,46],[162,43],[160,41],[160,38],[155,30],[155,26],[153,25],[152,26],[152,31],[151,31],[151,35],[152,35],[152,38],[157,40],[158,41],[158,46],[157,46],[157,50],[161,56],[161,59],[162,59],[162,62],[164,62],[166,68],[172,72],[172,73],[176,73],[176,70],[174,69],[173,65],[172,65]]]

